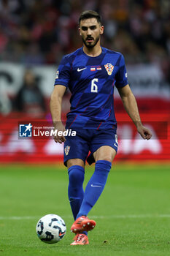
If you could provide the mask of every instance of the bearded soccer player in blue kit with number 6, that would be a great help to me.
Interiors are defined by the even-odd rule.
[[[68,167],[69,173],[68,194],[74,216],[71,231],[76,234],[71,245],[89,244],[88,231],[95,227],[96,222],[88,219],[88,213],[104,189],[117,153],[113,99],[115,87],[142,138],[149,140],[152,136],[150,130],[142,125],[136,99],[128,86],[123,55],[101,47],[104,26],[101,25],[100,15],[92,10],[82,12],[79,32],[83,46],[63,56],[50,99],[55,129],[77,132],[76,136],[65,138],[56,135],[54,138],[56,143],[64,142],[64,165]],[[61,102],[67,88],[72,97],[64,127]],[[84,192],[82,186],[86,160],[89,164],[95,162],[95,170]]]

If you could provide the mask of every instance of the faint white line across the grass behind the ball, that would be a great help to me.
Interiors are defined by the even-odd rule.
[[[22,220],[22,219],[40,219],[41,217],[37,216],[9,216],[4,217],[0,216],[0,220],[9,219],[9,220]],[[62,215],[62,218],[72,218],[72,215]],[[129,214],[129,215],[109,215],[109,216],[90,216],[92,219],[143,219],[143,218],[170,218],[170,214]]]

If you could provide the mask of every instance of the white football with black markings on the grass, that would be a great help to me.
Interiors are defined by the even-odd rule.
[[[58,243],[66,234],[66,224],[60,216],[47,214],[36,224],[36,234],[47,244]]]

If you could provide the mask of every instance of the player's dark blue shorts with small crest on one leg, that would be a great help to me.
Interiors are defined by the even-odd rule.
[[[114,129],[76,129],[76,136],[66,136],[63,148],[63,162],[79,158],[91,165],[95,162],[93,153],[101,146],[111,146],[117,152],[117,135]],[[90,154],[89,154],[90,151]]]

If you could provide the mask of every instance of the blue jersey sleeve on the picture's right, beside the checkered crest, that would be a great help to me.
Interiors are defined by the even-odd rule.
[[[125,69],[125,59],[122,54],[120,56],[120,65],[115,75],[115,80],[115,86],[117,88],[124,87],[128,84],[128,75]]]

